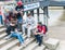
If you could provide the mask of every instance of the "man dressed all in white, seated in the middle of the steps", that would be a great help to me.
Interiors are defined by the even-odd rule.
[[[25,34],[25,28],[27,28],[27,37],[30,38],[30,30],[35,28],[35,18],[29,13],[26,17],[26,24],[23,25],[23,33]]]

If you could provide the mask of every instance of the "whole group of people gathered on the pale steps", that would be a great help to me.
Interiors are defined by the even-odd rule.
[[[46,35],[48,32],[47,26],[41,22],[38,22],[36,25],[35,17],[31,15],[31,13],[28,13],[26,20],[23,20],[24,13],[23,2],[18,1],[15,11],[10,11],[9,15],[5,16],[4,22],[6,26],[6,39],[14,37],[18,39],[18,46],[25,47],[26,42],[23,38],[23,35],[27,36],[28,41],[32,35],[32,37],[36,39],[36,42],[38,42],[38,46],[41,46],[43,35]]]

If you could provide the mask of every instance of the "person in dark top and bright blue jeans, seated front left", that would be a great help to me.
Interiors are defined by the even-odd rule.
[[[24,38],[21,34],[18,34],[17,26],[14,23],[14,21],[11,22],[11,24],[9,26],[9,33],[10,33],[10,35],[9,35],[8,39],[11,38],[11,37],[16,37],[20,40],[20,46],[24,45]]]

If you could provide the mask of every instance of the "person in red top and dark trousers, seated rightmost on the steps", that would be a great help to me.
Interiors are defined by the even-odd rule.
[[[41,22],[38,23],[38,26],[35,30],[35,37],[37,39],[37,42],[39,42],[39,46],[42,43],[42,37],[47,33],[47,26],[42,25]]]

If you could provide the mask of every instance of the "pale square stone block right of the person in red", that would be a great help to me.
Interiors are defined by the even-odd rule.
[[[54,38],[49,38],[48,40],[44,41],[44,45],[48,49],[55,50],[60,45],[60,40]]]

